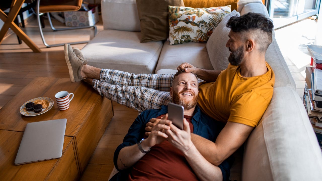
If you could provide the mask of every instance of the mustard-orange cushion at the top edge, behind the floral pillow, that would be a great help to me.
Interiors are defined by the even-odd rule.
[[[237,10],[238,0],[183,0],[186,7],[217,7],[231,5],[232,10]]]

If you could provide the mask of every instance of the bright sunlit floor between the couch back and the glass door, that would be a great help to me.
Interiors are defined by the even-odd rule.
[[[317,44],[317,20],[304,19],[275,30],[276,41],[296,84],[296,92],[303,98],[305,69],[310,66],[308,44]]]

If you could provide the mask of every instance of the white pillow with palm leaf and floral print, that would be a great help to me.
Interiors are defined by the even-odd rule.
[[[231,11],[231,5],[210,8],[169,6],[170,45],[207,42],[213,30]]]

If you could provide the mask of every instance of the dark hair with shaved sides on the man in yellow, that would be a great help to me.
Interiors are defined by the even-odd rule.
[[[233,32],[241,33],[244,40],[252,37],[259,45],[260,52],[266,52],[272,43],[273,22],[262,14],[250,12],[239,17],[233,16],[226,26]]]

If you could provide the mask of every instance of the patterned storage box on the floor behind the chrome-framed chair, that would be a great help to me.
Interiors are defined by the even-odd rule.
[[[98,6],[89,11],[64,12],[66,26],[93,26],[99,21]]]

